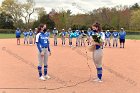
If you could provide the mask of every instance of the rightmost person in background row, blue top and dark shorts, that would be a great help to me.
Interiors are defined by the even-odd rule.
[[[124,31],[123,28],[121,28],[121,31],[119,32],[120,48],[124,48],[125,36],[126,36],[126,32]]]

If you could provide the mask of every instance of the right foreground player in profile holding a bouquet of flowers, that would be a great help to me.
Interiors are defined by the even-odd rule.
[[[100,33],[101,27],[99,23],[92,25],[93,31],[95,31],[95,34],[99,34],[102,39],[104,39]],[[103,49],[101,48],[103,45],[103,40],[101,43],[93,43],[93,47],[95,46],[95,50],[93,50],[93,61],[95,64],[95,67],[97,69],[97,79],[94,81],[102,82],[102,57],[103,57]]]

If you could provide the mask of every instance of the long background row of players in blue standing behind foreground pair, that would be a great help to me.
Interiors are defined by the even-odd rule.
[[[52,31],[53,33],[53,38],[54,38],[54,46],[57,46],[58,44],[58,36],[61,36],[62,40],[62,45],[65,46],[66,44],[66,35],[68,34],[68,39],[69,39],[69,46],[73,45],[73,38],[76,38],[76,46],[85,46],[86,41],[88,45],[91,45],[92,41],[92,35],[94,34],[94,31],[92,31],[90,28],[88,28],[87,32],[84,30],[76,30],[72,31],[71,28],[68,29],[68,31],[65,31],[65,29],[62,29],[61,33],[58,33],[58,30],[54,28]],[[37,28],[35,28],[34,31],[30,29],[29,31],[24,31],[24,44],[35,44],[35,37],[37,34]],[[46,33],[48,37],[50,37],[50,31],[47,30]],[[105,39],[105,44],[104,46],[106,47],[107,44],[109,47],[111,47],[111,36],[113,37],[113,47],[118,47],[118,38],[120,40],[120,48],[124,48],[125,44],[125,36],[126,32],[124,31],[123,28],[121,28],[120,32],[117,32],[116,30],[113,31],[113,33],[109,32],[107,30],[106,32],[101,32],[102,37]],[[19,28],[16,30],[16,38],[17,38],[17,44],[20,44],[20,36],[21,36],[21,31]]]

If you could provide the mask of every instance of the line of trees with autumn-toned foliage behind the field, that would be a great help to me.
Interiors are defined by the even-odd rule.
[[[93,22],[99,22],[104,30],[119,30],[123,27],[130,31],[140,31],[138,3],[131,6],[102,7],[76,15],[72,15],[71,10],[64,9],[52,9],[47,13],[44,7],[35,7],[35,4],[34,0],[26,0],[24,3],[4,0],[0,6],[0,29],[29,29],[44,23],[49,29],[71,27],[73,30],[87,30]],[[37,14],[35,19],[31,18],[33,14]]]

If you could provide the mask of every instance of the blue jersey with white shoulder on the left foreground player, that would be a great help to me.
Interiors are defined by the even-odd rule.
[[[50,52],[49,40],[47,34],[44,32],[40,32],[36,35],[36,43],[40,52],[42,52],[41,48],[48,48],[48,51]]]

